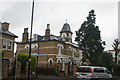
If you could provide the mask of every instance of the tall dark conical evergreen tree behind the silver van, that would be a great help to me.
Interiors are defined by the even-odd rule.
[[[91,10],[80,29],[76,31],[75,41],[83,49],[83,58],[89,59],[91,64],[97,64],[97,57],[103,52],[105,42],[101,40],[99,27],[96,26],[95,11]]]

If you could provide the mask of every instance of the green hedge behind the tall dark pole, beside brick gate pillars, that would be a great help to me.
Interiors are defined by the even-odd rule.
[[[26,62],[29,60],[29,54],[27,53],[21,53],[18,55],[18,61],[21,61],[21,68],[25,69]],[[36,58],[35,56],[31,55],[31,70],[35,70],[36,67]],[[24,72],[25,70],[23,70]]]

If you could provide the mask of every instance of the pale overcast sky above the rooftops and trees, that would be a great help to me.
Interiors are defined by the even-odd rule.
[[[9,30],[19,36],[16,41],[22,40],[24,28],[30,32],[31,8],[32,0],[0,0],[0,21],[10,23]],[[59,36],[67,19],[75,42],[75,31],[92,9],[106,42],[105,50],[111,50],[112,42],[118,38],[118,0],[35,0],[33,34],[44,35],[50,24],[51,34]]]

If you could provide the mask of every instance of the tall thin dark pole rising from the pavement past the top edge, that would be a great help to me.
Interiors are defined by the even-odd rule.
[[[28,60],[28,80],[30,80],[30,63],[31,63],[31,42],[32,42],[32,28],[33,28],[33,14],[34,14],[34,0],[32,3],[32,15],[31,15],[31,31],[30,31],[30,42],[29,42],[29,60]]]

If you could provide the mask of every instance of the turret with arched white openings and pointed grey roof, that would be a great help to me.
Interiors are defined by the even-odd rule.
[[[72,31],[70,29],[70,25],[68,23],[65,23],[62,27],[62,30],[60,31],[60,36],[63,41],[66,42],[72,42]]]

